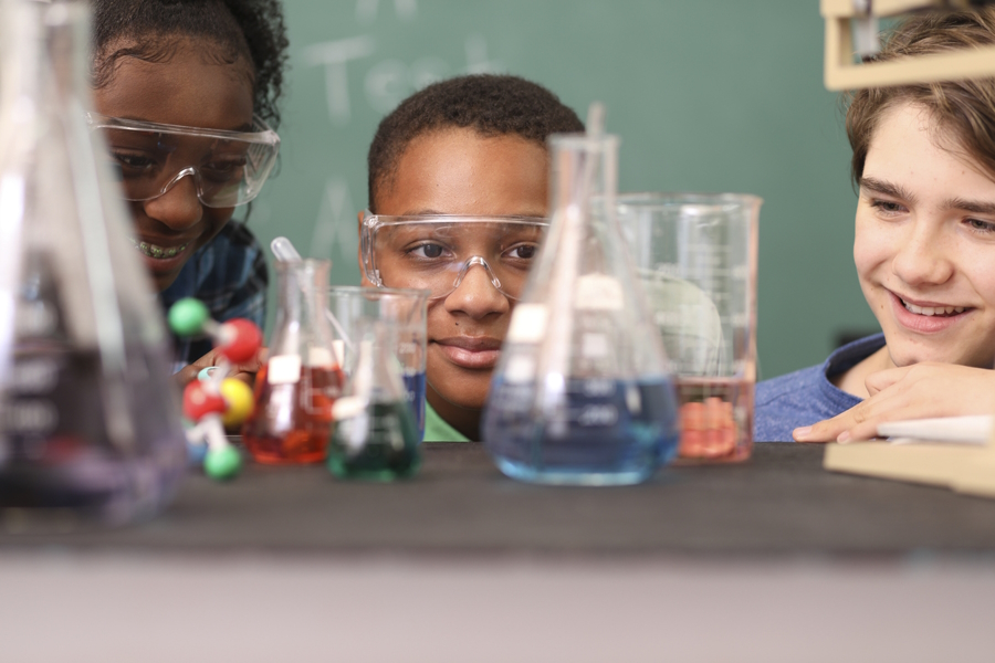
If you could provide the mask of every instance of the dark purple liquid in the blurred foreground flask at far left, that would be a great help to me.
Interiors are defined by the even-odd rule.
[[[148,379],[158,367],[147,359],[128,352],[128,367],[145,377],[115,386],[104,382],[96,351],[52,343],[15,350],[0,408],[0,511],[119,524],[165,504],[182,476],[186,443],[171,409],[157,403],[165,378]],[[127,424],[112,432],[105,412],[115,393],[113,409]]]

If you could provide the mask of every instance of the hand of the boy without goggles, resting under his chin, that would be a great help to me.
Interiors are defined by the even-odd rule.
[[[795,441],[870,440],[886,421],[995,413],[995,371],[984,368],[924,361],[871,373],[865,385],[870,398],[832,419],[795,429]]]

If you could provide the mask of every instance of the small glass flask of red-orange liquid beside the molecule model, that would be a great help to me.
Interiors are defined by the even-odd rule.
[[[242,427],[245,449],[260,463],[325,460],[343,387],[325,314],[331,267],[327,260],[276,262],[276,323],[255,376],[255,409]]]

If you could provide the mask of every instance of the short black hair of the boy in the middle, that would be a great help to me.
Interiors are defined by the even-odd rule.
[[[367,156],[369,210],[389,185],[408,145],[422,134],[472,128],[515,135],[545,147],[551,134],[583,131],[584,123],[555,94],[519,76],[474,74],[433,83],[406,98],[377,127]]]

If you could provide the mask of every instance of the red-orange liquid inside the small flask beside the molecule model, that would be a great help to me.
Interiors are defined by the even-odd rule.
[[[242,427],[245,449],[260,463],[303,464],[325,460],[332,406],[342,393],[338,368],[304,367],[292,385],[270,385],[269,365],[255,377],[255,411]]]

